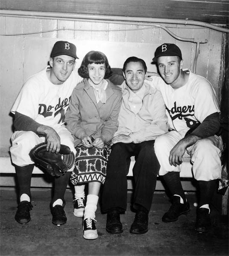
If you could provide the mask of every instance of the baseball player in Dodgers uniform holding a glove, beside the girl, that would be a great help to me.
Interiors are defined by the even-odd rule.
[[[11,138],[10,152],[19,185],[19,204],[15,219],[20,224],[31,220],[30,184],[34,162],[29,157],[30,150],[46,141],[47,150],[50,152],[58,153],[60,145],[64,144],[75,155],[73,138],[64,125],[64,116],[72,90],[82,80],[77,71],[74,71],[76,58],[74,44],[57,41],[49,58],[50,67],[25,82],[12,107],[15,132]],[[53,224],[60,225],[67,221],[64,193],[72,168],[55,178],[51,202]]]

